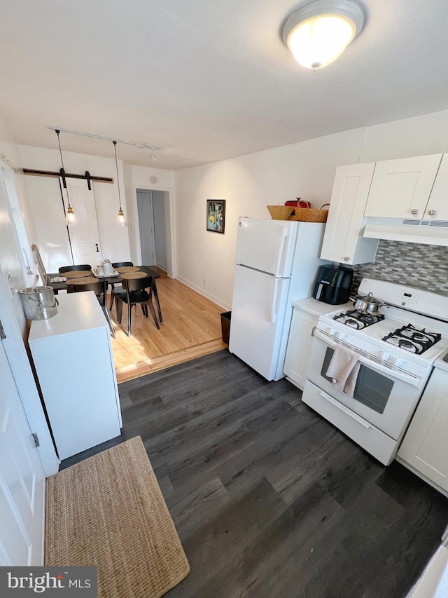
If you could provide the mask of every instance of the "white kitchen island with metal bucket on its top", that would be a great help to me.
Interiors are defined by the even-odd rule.
[[[29,348],[60,459],[120,435],[109,324],[94,292],[59,294],[57,315],[34,320]]]

